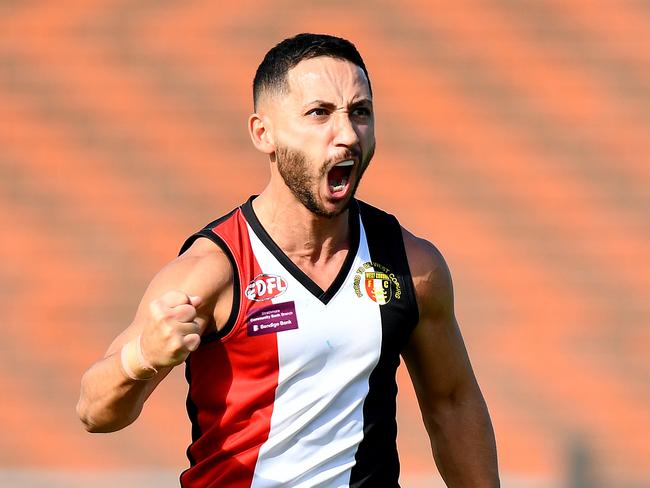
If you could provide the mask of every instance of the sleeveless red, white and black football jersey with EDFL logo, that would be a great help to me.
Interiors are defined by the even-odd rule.
[[[401,227],[353,200],[350,250],[322,290],[244,205],[191,236],[234,270],[225,327],[186,361],[181,486],[399,487],[395,373],[418,321]]]

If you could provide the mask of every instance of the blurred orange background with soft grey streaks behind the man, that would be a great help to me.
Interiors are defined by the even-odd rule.
[[[177,483],[182,371],[110,435],[79,380],[262,189],[252,77],[303,31],[368,65],[360,197],[449,262],[503,486],[650,486],[649,25],[644,0],[0,1],[0,486]],[[404,486],[438,486],[400,384]]]

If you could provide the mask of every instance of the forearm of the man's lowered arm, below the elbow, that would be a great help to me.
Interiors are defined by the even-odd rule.
[[[437,402],[424,419],[447,486],[500,486],[494,431],[478,387]]]

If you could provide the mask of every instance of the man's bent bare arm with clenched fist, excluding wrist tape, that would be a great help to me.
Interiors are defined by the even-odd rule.
[[[156,386],[198,347],[201,334],[225,323],[231,304],[228,259],[207,239],[197,240],[156,275],[131,325],[83,375],[77,413],[86,430],[113,432],[135,421]],[[123,346],[138,340],[157,370],[138,368],[136,361],[131,373],[145,379],[130,378],[121,361]]]

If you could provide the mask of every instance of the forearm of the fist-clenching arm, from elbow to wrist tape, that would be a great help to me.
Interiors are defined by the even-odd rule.
[[[162,374],[159,373],[159,374]],[[126,376],[120,354],[95,363],[81,379],[77,414],[89,432],[113,432],[131,424],[140,412],[152,385]]]

